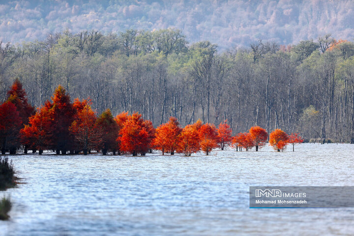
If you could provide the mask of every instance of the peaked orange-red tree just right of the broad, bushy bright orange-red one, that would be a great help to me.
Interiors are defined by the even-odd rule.
[[[162,151],[162,155],[164,155],[165,151],[169,151],[171,155],[173,155],[177,149],[178,136],[182,131],[178,125],[177,118],[171,117],[168,123],[161,124],[156,128],[155,138],[152,144],[154,148]]]

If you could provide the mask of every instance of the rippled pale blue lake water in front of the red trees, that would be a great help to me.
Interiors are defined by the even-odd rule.
[[[250,209],[249,186],[354,186],[354,145],[191,157],[14,155],[0,235],[353,235],[354,209]]]

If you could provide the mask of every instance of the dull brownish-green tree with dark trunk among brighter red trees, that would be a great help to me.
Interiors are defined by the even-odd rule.
[[[97,125],[102,129],[102,154],[106,155],[108,150],[112,150],[113,154],[116,154],[116,150],[119,152],[119,146],[117,142],[119,127],[116,120],[113,118],[111,110],[107,109],[97,118]]]

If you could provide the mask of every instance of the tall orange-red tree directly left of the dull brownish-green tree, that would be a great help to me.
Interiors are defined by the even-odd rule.
[[[89,105],[78,112],[69,127],[75,139],[75,149],[83,150],[87,155],[90,149],[97,149],[102,143],[102,131],[96,124],[96,115]]]

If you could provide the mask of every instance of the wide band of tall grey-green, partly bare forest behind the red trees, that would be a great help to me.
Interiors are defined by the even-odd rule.
[[[19,78],[36,107],[61,84],[70,97],[90,96],[97,114],[139,112],[155,127],[171,116],[183,126],[227,119],[234,133],[259,125],[353,143],[353,55],[352,42],[330,35],[219,53],[208,41],[188,45],[177,29],[64,31],[1,44],[0,101]]]

